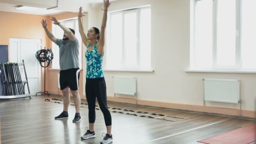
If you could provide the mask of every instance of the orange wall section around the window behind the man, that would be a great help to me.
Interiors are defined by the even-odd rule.
[[[69,18],[74,18],[77,17],[77,13],[72,13],[72,12],[67,12],[67,13],[61,13],[61,14],[56,14],[53,15],[55,16],[58,20],[62,20],[62,19],[69,19]],[[48,16],[48,29],[50,29],[51,31],[51,16]],[[58,38],[62,38],[62,37],[58,37]],[[51,48],[51,40],[49,40],[49,45]],[[82,45],[82,44],[80,44]],[[82,53],[83,53],[83,49],[82,49]],[[82,54],[80,53],[80,54]],[[82,54],[83,56],[83,54]],[[52,70],[52,69],[47,69],[46,71],[46,89],[49,93],[51,94],[56,94],[56,95],[62,95],[62,92],[60,90],[60,88],[58,88],[58,74],[59,74],[59,70]],[[80,70],[80,80],[79,80],[79,93],[80,96],[83,98],[83,70]]]

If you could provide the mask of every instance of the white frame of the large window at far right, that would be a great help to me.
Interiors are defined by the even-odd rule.
[[[197,67],[196,61],[195,61],[195,23],[196,23],[196,4],[197,1],[200,0],[191,0],[191,15],[190,15],[190,27],[192,30],[190,31],[190,69],[209,69],[209,68],[203,68],[203,67]],[[236,3],[236,12],[235,12],[235,18],[236,18],[236,39],[235,39],[235,65],[234,66],[218,66],[217,65],[217,10],[218,10],[218,0],[212,0],[213,1],[213,46],[212,46],[212,70],[229,70],[229,71],[256,71],[256,68],[253,69],[245,69],[242,67],[242,59],[241,59],[241,35],[242,35],[242,0],[235,0]]]

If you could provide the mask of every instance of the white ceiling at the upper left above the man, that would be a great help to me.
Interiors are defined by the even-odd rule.
[[[115,0],[109,0],[110,2]],[[53,15],[57,13],[64,12],[78,12],[79,7],[84,7],[83,11],[86,11],[86,8],[90,4],[93,4],[94,7],[99,7],[103,3],[103,0],[0,0],[0,11],[9,11],[16,13],[29,13],[29,14],[38,14],[38,15]],[[18,5],[37,7],[35,11],[24,11],[18,10],[16,7]],[[50,8],[47,10],[47,8]]]

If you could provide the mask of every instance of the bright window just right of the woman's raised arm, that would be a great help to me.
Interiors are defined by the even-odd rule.
[[[107,69],[151,69],[151,10],[109,13]]]

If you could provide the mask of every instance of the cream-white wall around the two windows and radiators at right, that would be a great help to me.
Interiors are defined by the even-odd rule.
[[[184,72],[189,67],[189,0],[119,0],[110,5],[109,11],[148,4],[151,4],[152,13],[152,67],[155,72],[104,71],[108,96],[114,96],[113,75],[133,76],[137,78],[138,99],[203,105],[203,78],[238,78],[242,109],[255,110],[256,74]],[[97,13],[96,26],[100,28],[102,11],[97,10]],[[105,66],[106,56],[103,63]],[[209,102],[206,105],[240,108],[238,104]]]

